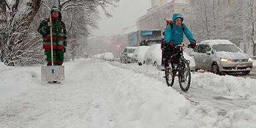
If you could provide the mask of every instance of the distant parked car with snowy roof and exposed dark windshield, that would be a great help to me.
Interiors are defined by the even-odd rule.
[[[136,48],[137,47],[125,47],[122,52],[121,63],[131,63]]]

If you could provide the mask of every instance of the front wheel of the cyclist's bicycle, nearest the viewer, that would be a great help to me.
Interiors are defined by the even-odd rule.
[[[179,68],[179,86],[182,91],[187,92],[189,90],[191,73],[189,68],[189,63],[186,59],[181,59],[181,65]]]

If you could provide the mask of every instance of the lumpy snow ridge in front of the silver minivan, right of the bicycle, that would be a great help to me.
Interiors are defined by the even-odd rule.
[[[234,98],[256,99],[256,79],[231,75],[219,76],[213,73],[195,73],[191,79],[193,79],[191,84],[197,87],[225,92]]]

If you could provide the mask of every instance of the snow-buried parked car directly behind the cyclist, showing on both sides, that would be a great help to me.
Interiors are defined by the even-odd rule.
[[[195,71],[195,61],[192,57],[187,55],[187,53],[183,52],[183,56],[185,59],[189,60],[189,67],[191,71]],[[162,51],[161,51],[161,44],[155,44],[149,47],[145,53],[144,57],[144,63],[147,65],[154,65],[157,67],[157,69],[163,69],[161,67],[161,57],[162,57]]]

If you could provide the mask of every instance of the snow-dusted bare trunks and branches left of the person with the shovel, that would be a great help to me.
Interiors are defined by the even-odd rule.
[[[31,49],[36,45],[30,42],[31,23],[38,12],[40,2],[41,0],[31,0],[25,3],[16,0],[12,4],[7,1],[2,3],[3,11],[0,15],[7,21],[1,24],[1,59],[5,65],[14,66],[15,63],[33,61],[26,57],[31,57],[30,55],[33,55],[31,53],[35,51],[35,49]],[[19,11],[23,7],[27,7],[27,9]]]

